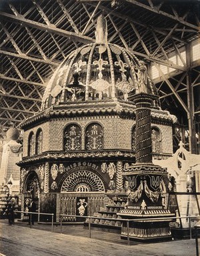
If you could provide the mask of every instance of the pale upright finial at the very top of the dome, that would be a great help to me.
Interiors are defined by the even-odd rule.
[[[107,43],[107,20],[102,14],[97,18],[95,37],[96,43]]]

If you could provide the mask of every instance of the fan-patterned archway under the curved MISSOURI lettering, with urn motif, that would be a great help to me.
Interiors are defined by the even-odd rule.
[[[57,219],[60,214],[78,215],[63,217],[63,221],[83,221],[81,216],[93,215],[105,205],[105,185],[97,173],[78,170],[67,175],[61,185],[57,201]]]

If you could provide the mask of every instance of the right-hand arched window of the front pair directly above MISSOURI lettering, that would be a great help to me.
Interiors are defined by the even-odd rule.
[[[103,128],[99,123],[88,125],[85,132],[85,147],[87,150],[103,149]]]

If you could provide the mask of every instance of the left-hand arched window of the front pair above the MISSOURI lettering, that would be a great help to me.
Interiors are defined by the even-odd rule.
[[[67,125],[64,130],[64,149],[80,150],[81,149],[81,128],[79,125]]]

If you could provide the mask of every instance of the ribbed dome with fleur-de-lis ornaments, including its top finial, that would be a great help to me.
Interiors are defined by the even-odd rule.
[[[147,67],[133,53],[107,42],[107,24],[97,20],[96,41],[73,51],[59,65],[45,90],[42,109],[74,101],[122,99],[155,94]]]

